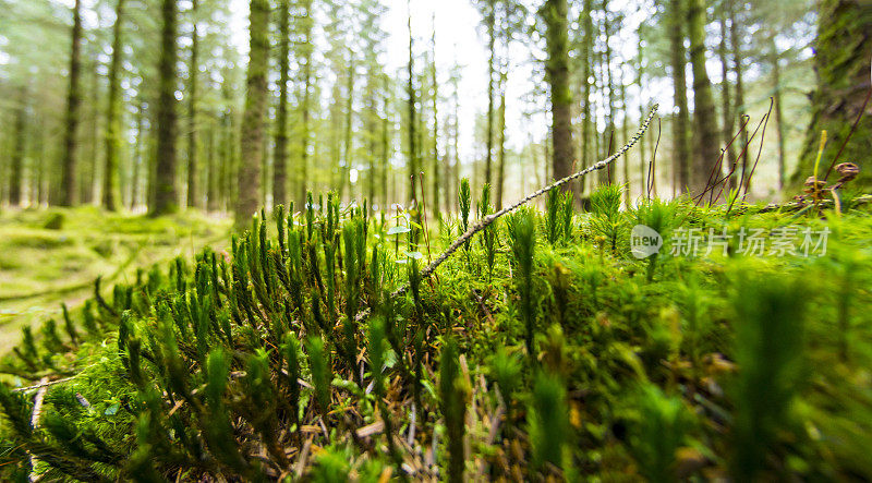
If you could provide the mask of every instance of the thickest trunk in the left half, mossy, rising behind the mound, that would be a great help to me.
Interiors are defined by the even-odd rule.
[[[249,74],[240,140],[243,158],[239,167],[239,194],[234,210],[238,230],[247,227],[252,215],[261,207],[269,65],[269,0],[251,0],[249,35],[251,36]]]

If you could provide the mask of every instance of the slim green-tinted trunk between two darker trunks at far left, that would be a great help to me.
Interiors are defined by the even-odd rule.
[[[102,173],[102,207],[118,209],[118,170],[121,150],[121,26],[124,21],[124,0],[116,4],[112,26],[112,60],[109,64],[109,100],[106,109],[106,160]]]

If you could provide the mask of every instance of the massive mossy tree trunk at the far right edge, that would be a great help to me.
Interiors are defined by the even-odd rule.
[[[872,57],[872,19],[869,9],[857,0],[820,0],[818,12],[818,39],[814,70],[818,86],[811,96],[812,118],[806,136],[806,146],[799,158],[797,171],[790,179],[791,188],[799,188],[814,173],[814,160],[821,131],[827,131],[827,145],[821,158],[819,177],[824,178],[829,164],[856,162],[863,165],[872,150],[870,107],[861,119],[850,142],[845,145],[839,159],[835,159],[845,138],[863,107],[870,89],[869,60]],[[868,166],[868,165],[867,165]],[[851,182],[853,188],[872,185],[869,169]],[[829,174],[836,181],[835,172]]]

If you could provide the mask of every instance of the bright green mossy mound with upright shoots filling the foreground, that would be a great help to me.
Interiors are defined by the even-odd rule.
[[[429,229],[277,207],[25,327],[0,479],[872,478],[868,206],[555,190],[423,278],[494,212],[459,191]],[[633,256],[638,226],[658,253]]]

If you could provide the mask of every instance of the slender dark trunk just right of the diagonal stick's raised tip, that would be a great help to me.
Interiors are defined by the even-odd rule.
[[[678,108],[673,122],[674,170],[678,193],[690,186],[690,143],[688,140],[688,89],[687,51],[685,50],[685,0],[669,0],[669,51],[673,64],[675,106]]]

